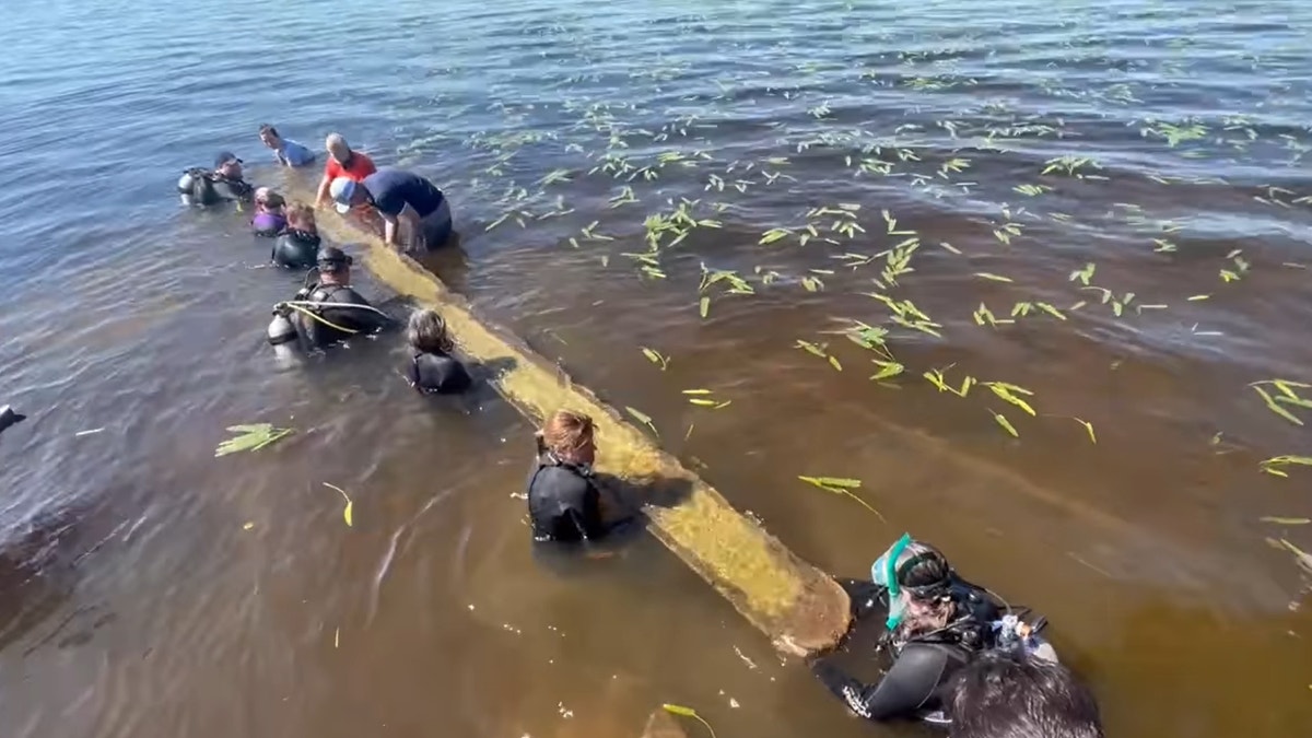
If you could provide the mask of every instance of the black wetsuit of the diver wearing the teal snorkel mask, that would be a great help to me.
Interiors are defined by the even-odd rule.
[[[845,649],[851,647],[857,633],[876,633],[880,643],[888,642],[884,621],[888,616],[888,591],[872,582],[841,580],[851,597],[853,628]],[[956,620],[947,628],[916,636],[905,643],[890,643],[892,664],[876,683],[866,683],[846,674],[827,654],[811,663],[815,675],[830,692],[861,717],[883,721],[914,718],[942,708],[945,691],[953,675],[974,655],[992,645],[992,622],[998,619],[997,604],[981,588],[955,580],[951,596],[956,603]],[[874,647],[866,643],[870,650]],[[869,658],[870,654],[858,654]]]

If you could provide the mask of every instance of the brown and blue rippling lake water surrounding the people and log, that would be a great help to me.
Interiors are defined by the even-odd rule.
[[[1312,382],[1305,4],[7,24],[0,403],[31,418],[0,439],[4,735],[615,737],[660,703],[720,738],[917,733],[846,716],[649,540],[544,570],[530,428],[493,393],[422,402],[394,337],[279,370],[262,334],[297,277],[173,193],[219,148],[277,184],[261,122],[433,177],[463,232],[433,268],[802,557],[859,575],[912,531],[1047,615],[1109,734],[1312,724],[1312,469],[1262,473],[1312,454],[1312,390],[1260,385],[1295,424],[1249,386]],[[701,225],[649,248],[676,213]],[[213,457],[255,422],[298,433]],[[799,475],[861,479],[887,521]]]

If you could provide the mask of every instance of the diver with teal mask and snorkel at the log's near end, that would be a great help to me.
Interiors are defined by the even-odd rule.
[[[874,721],[918,718],[946,725],[943,706],[953,676],[989,650],[1023,651],[1055,661],[1035,625],[1002,607],[981,587],[966,582],[933,546],[903,536],[871,567],[872,580],[840,580],[851,597],[851,637],[862,625],[878,628],[874,651],[891,664],[869,684],[833,663],[812,658],[820,682],[858,716]]]

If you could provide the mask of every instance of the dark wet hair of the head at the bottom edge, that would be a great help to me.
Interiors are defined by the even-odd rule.
[[[1093,692],[1067,667],[1017,651],[980,654],[947,700],[953,738],[1102,738]]]

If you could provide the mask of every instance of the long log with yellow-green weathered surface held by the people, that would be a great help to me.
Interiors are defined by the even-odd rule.
[[[314,201],[303,186],[290,194]],[[590,415],[598,432],[597,470],[648,490],[653,500],[677,500],[646,506],[648,529],[771,641],[787,638],[817,651],[848,630],[848,595],[833,579],[736,511],[614,408],[509,331],[476,316],[463,297],[413,259],[336,211],[320,210],[318,219],[327,239],[362,244],[363,264],[380,282],[437,309],[466,356],[499,368],[496,389],[531,422],[560,408]]]

